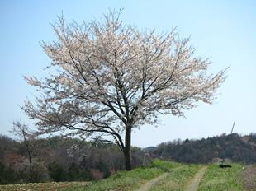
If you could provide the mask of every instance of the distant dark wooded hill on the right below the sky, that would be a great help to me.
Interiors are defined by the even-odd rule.
[[[161,143],[158,147],[148,147],[145,151],[161,159],[185,163],[209,163],[222,158],[234,162],[256,163],[256,133],[246,136],[223,134],[200,140],[178,139]]]

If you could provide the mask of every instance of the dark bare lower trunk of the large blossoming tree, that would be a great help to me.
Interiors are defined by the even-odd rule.
[[[130,165],[130,134],[131,134],[131,127],[126,126],[126,148],[125,148],[125,151],[124,151],[126,170],[131,170],[131,165]]]

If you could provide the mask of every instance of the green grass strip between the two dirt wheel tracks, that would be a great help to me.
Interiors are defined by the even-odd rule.
[[[177,170],[171,171],[164,179],[149,189],[149,191],[180,191],[184,190],[187,182],[192,179],[201,165],[183,165]]]

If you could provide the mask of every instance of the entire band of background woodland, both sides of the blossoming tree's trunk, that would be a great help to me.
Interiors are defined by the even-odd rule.
[[[31,140],[28,152],[26,144],[0,135],[0,184],[89,181],[125,169],[123,155],[115,145],[47,137]],[[256,163],[256,134],[223,134],[200,140],[178,139],[157,147],[132,147],[131,156],[133,168],[148,165],[154,158],[197,164],[221,158]]]

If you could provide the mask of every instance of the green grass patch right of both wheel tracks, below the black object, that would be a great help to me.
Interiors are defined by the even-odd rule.
[[[198,191],[243,191],[242,170],[243,165],[239,164],[232,164],[232,168],[224,169],[217,164],[209,165]]]

